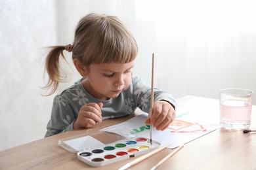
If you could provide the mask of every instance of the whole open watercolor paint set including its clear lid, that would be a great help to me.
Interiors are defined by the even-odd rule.
[[[76,153],[77,159],[92,167],[100,167],[140,156],[159,148],[161,143],[146,137],[123,137],[114,133],[100,132],[61,139],[58,145]]]

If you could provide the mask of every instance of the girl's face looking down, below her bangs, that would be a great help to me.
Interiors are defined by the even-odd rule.
[[[115,98],[131,84],[133,66],[134,61],[130,63],[93,63],[89,65],[87,78],[82,82],[83,86],[96,99]]]

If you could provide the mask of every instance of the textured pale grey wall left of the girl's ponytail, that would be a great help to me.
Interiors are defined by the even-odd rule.
[[[56,42],[55,5],[0,1],[0,150],[43,137],[53,97],[43,97],[43,46]]]

